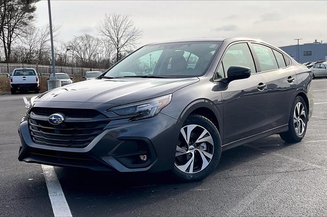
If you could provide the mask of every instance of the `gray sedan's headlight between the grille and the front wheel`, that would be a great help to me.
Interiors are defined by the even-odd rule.
[[[172,94],[169,94],[142,102],[114,107],[109,111],[121,116],[135,116],[132,118],[133,120],[151,118],[156,116],[162,110],[162,108],[167,106],[171,99]]]

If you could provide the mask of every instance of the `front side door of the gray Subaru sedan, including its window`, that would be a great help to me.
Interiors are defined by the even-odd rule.
[[[248,43],[236,43],[227,48],[218,71],[223,70],[227,75],[230,66],[249,67],[252,74],[245,79],[219,84],[223,99],[224,145],[267,129],[265,80],[261,74],[256,73]]]

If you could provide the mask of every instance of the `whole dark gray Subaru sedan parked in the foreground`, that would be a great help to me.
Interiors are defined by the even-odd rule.
[[[272,134],[301,141],[311,81],[310,69],[260,40],[148,44],[96,79],[31,98],[18,159],[200,180],[229,148]]]

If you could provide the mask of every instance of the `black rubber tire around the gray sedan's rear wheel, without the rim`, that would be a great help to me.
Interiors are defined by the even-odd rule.
[[[300,135],[296,132],[294,118],[293,118],[295,106],[298,102],[302,103],[302,105],[304,107],[305,115],[306,115],[306,118],[304,121],[305,127],[304,127],[303,132]],[[279,135],[281,136],[282,140],[284,140],[287,143],[297,143],[297,142],[300,142],[305,137],[305,134],[307,131],[307,126],[308,126],[308,108],[307,108],[305,100],[303,100],[302,97],[297,96],[292,105],[291,114],[290,114],[290,118],[289,118],[289,122],[288,122],[288,131],[283,132]]]

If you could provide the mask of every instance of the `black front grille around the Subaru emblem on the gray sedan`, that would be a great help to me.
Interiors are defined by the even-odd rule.
[[[90,113],[84,110],[83,118],[83,110],[38,107],[33,111],[28,118],[30,134],[33,142],[40,145],[85,148],[109,123],[106,116],[95,110]],[[65,121],[58,125],[49,123],[48,117],[58,112],[65,115]],[[98,115],[94,117],[95,114]]]

